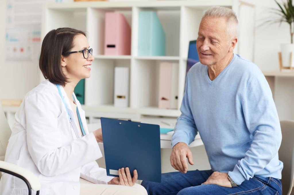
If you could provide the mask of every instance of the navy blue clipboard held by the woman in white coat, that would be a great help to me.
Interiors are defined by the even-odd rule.
[[[101,118],[101,126],[108,176],[129,167],[132,177],[136,169],[139,180],[161,182],[159,125]]]

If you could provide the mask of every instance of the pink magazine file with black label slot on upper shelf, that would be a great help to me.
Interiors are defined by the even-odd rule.
[[[122,13],[105,14],[105,55],[131,55],[131,28]]]

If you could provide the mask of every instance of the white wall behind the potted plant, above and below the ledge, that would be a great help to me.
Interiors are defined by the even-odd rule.
[[[251,0],[253,1],[253,0]],[[274,0],[253,1],[256,5],[256,25],[274,19],[269,7],[278,8]],[[280,2],[280,1],[279,1]],[[267,6],[267,7],[264,7]],[[255,30],[254,62],[262,71],[279,71],[278,52],[281,43],[290,43],[290,27],[287,23],[275,23]],[[294,78],[276,77],[275,104],[280,120],[294,120]]]

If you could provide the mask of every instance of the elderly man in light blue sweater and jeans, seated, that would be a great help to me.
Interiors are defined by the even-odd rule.
[[[171,165],[180,172],[162,174],[161,183],[143,181],[148,194],[282,194],[278,114],[263,73],[233,54],[237,34],[231,9],[206,11],[196,44],[200,63],[188,72],[172,139]],[[187,171],[198,132],[211,170]]]

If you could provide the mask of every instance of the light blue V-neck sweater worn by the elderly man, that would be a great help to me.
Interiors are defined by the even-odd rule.
[[[228,173],[237,185],[254,175],[281,179],[280,122],[255,64],[234,54],[213,81],[207,66],[195,64],[186,78],[181,112],[172,146],[189,145],[199,132],[211,169]]]

